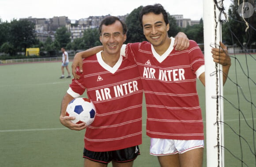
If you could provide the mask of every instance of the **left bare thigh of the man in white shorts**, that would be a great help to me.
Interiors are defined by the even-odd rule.
[[[161,167],[180,167],[179,154],[158,156]]]

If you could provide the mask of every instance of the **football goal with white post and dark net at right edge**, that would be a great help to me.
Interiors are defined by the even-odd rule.
[[[225,13],[223,1],[203,0],[207,167],[256,167],[255,1],[233,1],[239,19]],[[244,25],[238,32],[236,23]],[[222,66],[211,57],[211,47],[218,48],[222,41],[222,25],[232,41],[232,65],[224,87]],[[241,39],[239,32],[246,35]]]

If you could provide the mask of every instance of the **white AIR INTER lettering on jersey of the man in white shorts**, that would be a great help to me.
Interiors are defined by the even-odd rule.
[[[159,75],[156,77],[156,70],[151,67],[144,67],[143,77],[144,78],[151,78],[151,79],[158,79],[163,81],[177,81],[177,80],[185,80],[184,76],[185,70],[184,69],[170,69],[170,70],[163,70],[159,69]]]

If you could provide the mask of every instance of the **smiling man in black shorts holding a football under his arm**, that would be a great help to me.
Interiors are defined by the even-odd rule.
[[[127,28],[119,18],[104,18],[99,26],[103,51],[83,60],[83,78],[72,80],[65,94],[60,122],[72,129],[86,129],[84,167],[132,167],[142,143],[143,87],[134,61],[120,55]],[[87,90],[96,116],[87,127],[65,116],[68,102]]]

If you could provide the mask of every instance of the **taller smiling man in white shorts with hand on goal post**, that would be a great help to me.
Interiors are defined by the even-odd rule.
[[[127,44],[121,54],[138,65],[146,98],[150,154],[158,156],[161,167],[201,167],[204,134],[196,79],[204,85],[203,53],[193,40],[183,51],[173,49],[174,38],[167,33],[168,15],[161,4],[143,7],[139,20],[148,42]],[[213,48],[212,54],[214,62],[223,66],[225,84],[231,61],[226,46],[220,46]],[[77,54],[72,67],[79,64],[80,56],[88,54]]]

